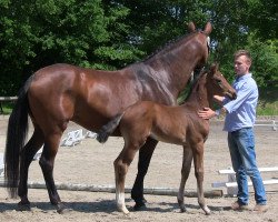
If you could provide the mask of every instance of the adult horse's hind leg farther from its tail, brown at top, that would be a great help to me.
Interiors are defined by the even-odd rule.
[[[46,185],[48,189],[48,194],[50,202],[57,206],[57,211],[59,213],[62,212],[63,205],[61,204],[60,196],[57,192],[57,188],[53,180],[53,165],[54,165],[54,158],[58,152],[60,139],[60,133],[51,133],[46,137],[46,142],[43,147],[43,151],[40,158],[40,167],[43,173],[43,178],[46,181]]]

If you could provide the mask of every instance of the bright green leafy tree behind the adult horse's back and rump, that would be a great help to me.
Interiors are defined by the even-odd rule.
[[[141,51],[128,40],[129,10],[101,0],[0,2],[1,94],[14,94],[39,68],[67,62],[117,69]]]

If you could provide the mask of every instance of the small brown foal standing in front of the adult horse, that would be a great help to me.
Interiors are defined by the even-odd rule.
[[[195,163],[197,179],[198,203],[206,214],[210,214],[203,196],[203,143],[209,134],[209,121],[199,118],[198,111],[212,107],[214,95],[227,95],[236,99],[234,88],[227,82],[218,65],[211,65],[202,72],[193,84],[188,99],[182,105],[169,107],[153,101],[139,101],[103,125],[97,140],[106,142],[109,134],[119,127],[125,140],[125,147],[115,160],[116,202],[119,211],[129,213],[125,204],[125,180],[128,168],[137,151],[147,139],[183,145],[183,161],[178,202],[181,211],[186,211],[183,196],[191,162]],[[147,148],[143,148],[147,149]]]

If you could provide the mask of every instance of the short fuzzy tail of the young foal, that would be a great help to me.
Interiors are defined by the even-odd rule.
[[[108,140],[109,135],[113,133],[116,128],[119,125],[123,114],[125,112],[117,114],[110,122],[100,128],[99,133],[97,135],[97,140],[100,143],[105,143]]]

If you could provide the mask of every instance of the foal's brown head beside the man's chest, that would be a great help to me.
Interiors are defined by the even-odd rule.
[[[206,77],[206,88],[208,98],[214,95],[228,97],[231,100],[237,98],[236,90],[228,83],[222,73],[218,70],[218,64],[212,64]]]

